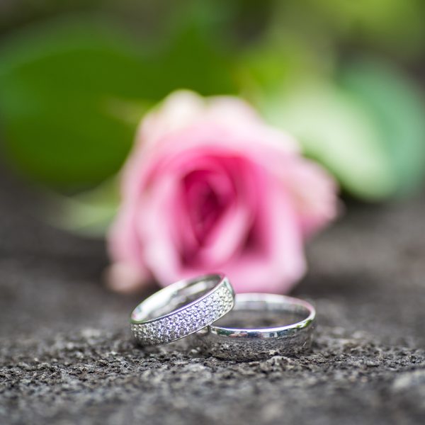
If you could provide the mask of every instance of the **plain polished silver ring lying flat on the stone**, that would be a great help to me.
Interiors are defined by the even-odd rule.
[[[259,317],[272,313],[275,320],[278,316],[282,316],[282,320],[283,316],[290,316],[290,324],[247,329],[245,323],[249,323],[250,317],[252,319],[253,312],[257,312]],[[233,311],[217,324],[194,334],[192,342],[198,343],[205,353],[230,360],[247,361],[275,355],[293,355],[310,348],[315,316],[314,307],[297,298],[238,294]],[[227,321],[234,326],[238,317],[240,324],[237,323],[237,326],[242,327],[225,327],[222,324]]]

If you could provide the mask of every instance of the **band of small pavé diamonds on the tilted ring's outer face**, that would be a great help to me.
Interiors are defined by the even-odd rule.
[[[140,344],[164,344],[215,322],[232,309],[233,303],[232,294],[222,286],[195,305],[169,317],[145,324],[132,324],[132,333]]]

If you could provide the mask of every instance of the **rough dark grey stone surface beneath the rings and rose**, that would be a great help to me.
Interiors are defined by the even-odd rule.
[[[425,423],[424,200],[348,205],[294,292],[318,310],[312,352],[235,363],[134,346],[146,294],[109,293],[103,244],[0,177],[0,424]]]

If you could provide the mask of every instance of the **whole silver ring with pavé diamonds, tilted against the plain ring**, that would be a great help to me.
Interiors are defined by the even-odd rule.
[[[130,317],[136,341],[167,344],[212,324],[234,306],[234,290],[221,274],[181,280],[141,302]]]

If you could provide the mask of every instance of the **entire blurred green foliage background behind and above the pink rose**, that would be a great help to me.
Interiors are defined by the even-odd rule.
[[[143,114],[234,94],[368,202],[425,175],[421,0],[3,0],[1,154],[101,232]],[[73,196],[69,196],[72,193]]]

